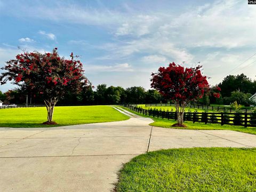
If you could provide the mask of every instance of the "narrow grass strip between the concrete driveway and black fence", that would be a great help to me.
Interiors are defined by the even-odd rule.
[[[125,110],[128,110],[134,114],[143,116],[143,117],[149,117],[146,115],[142,115],[140,113],[136,113],[135,111],[132,111],[130,109],[127,109],[125,107],[122,107]],[[251,134],[256,134],[256,127],[243,127],[243,126],[235,126],[235,125],[220,125],[220,124],[204,124],[204,123],[199,123],[199,122],[185,122],[184,124],[187,125],[187,127],[172,127],[174,123],[177,123],[177,121],[173,119],[162,119],[162,118],[157,118],[157,117],[152,117],[150,116],[149,118],[153,119],[154,122],[151,123],[150,125],[152,126],[159,126],[159,127],[165,127],[165,128],[174,128],[174,129],[190,129],[190,130],[232,130],[232,131],[239,131],[239,132],[244,132],[244,133],[251,133]]]

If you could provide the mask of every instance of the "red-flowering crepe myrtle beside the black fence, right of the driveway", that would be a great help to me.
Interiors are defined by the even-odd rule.
[[[185,68],[172,62],[168,67],[160,67],[157,73],[151,74],[151,87],[159,91],[167,100],[174,102],[178,126],[183,124],[187,103],[196,101],[202,98],[204,93],[210,92],[207,77],[202,75],[201,68],[202,66]],[[214,92],[213,95],[220,97],[219,93]]]

